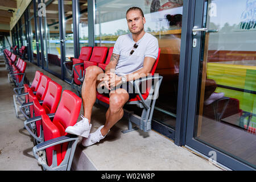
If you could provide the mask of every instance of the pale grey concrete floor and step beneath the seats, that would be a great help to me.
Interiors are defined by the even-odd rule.
[[[58,82],[64,89],[71,86],[28,63],[26,74],[32,81],[36,70]],[[75,92],[75,90],[72,90]],[[13,104],[13,86],[7,80],[5,63],[0,58],[0,170],[42,170],[32,155],[32,139],[23,129],[24,118],[16,118]],[[93,107],[92,130],[104,124],[106,108]],[[82,109],[80,111],[82,114]],[[80,120],[80,118],[78,119]],[[155,131],[137,130],[123,134],[126,119],[121,119],[98,144],[77,146],[73,170],[221,170],[207,160],[176,146],[171,140]],[[81,139],[81,138],[80,138]]]

